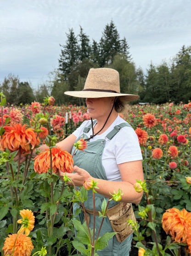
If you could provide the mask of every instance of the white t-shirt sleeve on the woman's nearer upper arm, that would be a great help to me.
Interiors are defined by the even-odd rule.
[[[117,164],[142,160],[138,137],[131,127],[124,127],[115,136],[115,155]]]

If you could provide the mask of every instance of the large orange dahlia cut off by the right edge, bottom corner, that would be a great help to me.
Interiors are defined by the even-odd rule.
[[[163,230],[169,234],[174,242],[186,243],[188,231],[191,229],[191,213],[177,208],[166,210],[162,217]]]

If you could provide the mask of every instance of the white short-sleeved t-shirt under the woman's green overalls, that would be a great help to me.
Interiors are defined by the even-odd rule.
[[[129,126],[123,127],[118,133],[109,140],[106,135],[112,131],[115,125],[124,123],[119,115],[110,127],[104,131],[101,135],[96,135],[90,142],[97,139],[106,139],[105,148],[102,154],[102,165],[105,168],[106,176],[108,180],[121,181],[121,174],[118,169],[118,164],[142,160],[142,154],[140,150],[139,140],[134,131]],[[84,127],[91,124],[91,120],[84,121],[73,134],[78,138],[83,134]],[[92,135],[92,129],[88,133],[85,133],[88,137]]]

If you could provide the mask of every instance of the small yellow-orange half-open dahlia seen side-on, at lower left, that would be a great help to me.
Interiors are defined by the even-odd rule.
[[[19,229],[18,233],[25,232],[26,236],[29,235],[30,231],[34,229],[34,215],[31,210],[22,210],[20,211],[20,215],[22,219],[17,220],[19,224],[22,224],[21,228]]]

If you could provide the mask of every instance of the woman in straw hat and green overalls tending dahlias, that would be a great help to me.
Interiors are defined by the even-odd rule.
[[[136,180],[143,181],[142,155],[138,138],[132,127],[118,113],[124,108],[124,102],[137,99],[137,95],[120,93],[119,74],[110,68],[90,69],[82,91],[65,92],[66,95],[86,98],[86,105],[91,120],[84,123],[57,146],[73,154],[73,144],[83,137],[87,141],[87,149],[76,150],[73,156],[73,173],[67,173],[73,184],[82,186],[84,180],[92,177],[97,182],[96,211],[101,210],[101,203],[108,200],[114,191],[122,190],[121,202],[139,203],[142,193],[134,189]],[[93,119],[95,119],[93,121]],[[59,172],[63,179],[64,173]],[[68,185],[73,185],[68,182]],[[92,191],[88,191],[85,208],[93,209]],[[116,204],[109,203],[109,208]],[[74,206],[74,211],[76,206]],[[83,213],[79,216],[83,222]],[[93,216],[90,214],[90,227]],[[126,220],[125,220],[126,221]],[[96,232],[101,218],[96,216]],[[127,223],[127,222],[126,222]],[[104,219],[100,236],[105,232],[113,232],[108,218]],[[97,251],[101,256],[129,255],[132,234],[123,242],[116,236],[108,242],[107,248]]]

